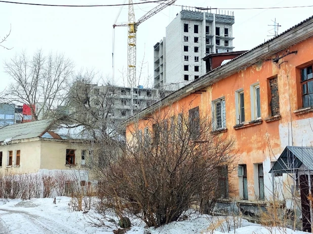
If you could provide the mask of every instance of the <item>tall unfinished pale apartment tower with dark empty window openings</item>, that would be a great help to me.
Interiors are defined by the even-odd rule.
[[[176,90],[204,75],[206,63],[202,58],[208,54],[232,52],[232,24],[233,14],[190,10],[177,14],[166,27],[166,37],[154,45],[154,88]],[[161,47],[162,59],[166,61],[162,70],[166,78],[163,79],[161,56],[158,57]]]

